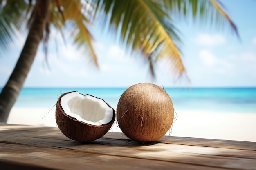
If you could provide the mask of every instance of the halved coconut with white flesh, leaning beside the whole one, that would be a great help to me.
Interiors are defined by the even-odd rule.
[[[56,122],[68,138],[89,142],[108,132],[115,121],[115,110],[103,99],[78,91],[64,93],[56,104]]]

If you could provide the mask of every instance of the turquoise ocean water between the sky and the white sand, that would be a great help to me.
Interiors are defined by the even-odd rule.
[[[65,92],[79,91],[117,108],[126,88],[23,88],[14,107],[52,108]],[[256,113],[256,88],[165,88],[175,110]]]

